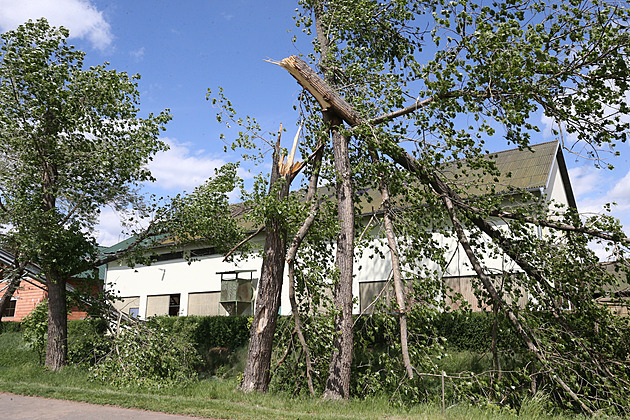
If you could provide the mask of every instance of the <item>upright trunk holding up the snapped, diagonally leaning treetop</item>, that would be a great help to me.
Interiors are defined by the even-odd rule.
[[[326,113],[328,114],[328,113]],[[324,398],[341,399],[350,396],[352,365],[352,271],[354,259],[354,201],[348,153],[348,137],[339,132],[341,119],[328,115],[332,128],[335,170],[337,172],[337,268],[335,285],[335,338]]]

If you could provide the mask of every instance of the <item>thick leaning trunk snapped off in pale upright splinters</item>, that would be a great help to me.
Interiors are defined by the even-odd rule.
[[[270,193],[274,191],[275,184],[281,180],[278,165],[279,156],[280,136],[278,136],[274,151]],[[286,182],[278,192],[278,199],[286,198],[288,193],[289,178],[287,177]],[[240,384],[240,389],[244,392],[266,392],[269,388],[271,351],[278,321],[278,309],[280,308],[286,244],[287,230],[283,220],[280,217],[270,217],[266,223],[263,264],[247,350],[247,364]]]

